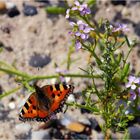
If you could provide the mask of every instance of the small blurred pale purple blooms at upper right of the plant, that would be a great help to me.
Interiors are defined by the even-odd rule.
[[[129,28],[127,28],[126,24],[117,24],[116,27],[113,28],[112,32],[118,31],[126,32],[129,31]]]

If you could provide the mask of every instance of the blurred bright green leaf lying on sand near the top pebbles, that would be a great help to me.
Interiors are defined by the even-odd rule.
[[[57,6],[49,6],[45,10],[49,14],[64,14],[66,12],[66,8]]]

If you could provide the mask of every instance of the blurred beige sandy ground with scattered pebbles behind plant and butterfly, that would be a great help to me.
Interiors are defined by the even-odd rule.
[[[86,0],[85,0],[86,2]],[[67,4],[66,4],[67,3]],[[0,61],[14,65],[20,71],[31,75],[53,75],[56,68],[66,70],[66,60],[71,45],[70,26],[65,19],[66,7],[73,0],[0,0]],[[61,12],[47,8],[58,6]],[[140,38],[139,0],[95,0],[93,19],[107,18],[112,24],[127,24],[128,38]],[[80,68],[88,64],[89,54],[74,51],[71,73],[80,73]],[[140,70],[140,46],[134,48],[130,56],[131,70]],[[67,79],[69,81],[69,79]],[[52,84],[54,79],[42,80],[40,85]],[[74,79],[75,90],[68,100],[79,100],[80,91],[88,84],[87,79]],[[0,71],[0,94],[15,88],[17,83],[11,75]],[[0,100],[0,139],[103,139],[99,124],[102,119],[90,114],[86,109],[69,107],[65,114],[49,123],[18,120],[20,108],[26,101],[29,91],[22,89]],[[73,115],[74,114],[74,115]],[[140,126],[129,127],[131,138],[140,138]],[[123,134],[114,133],[114,138]]]

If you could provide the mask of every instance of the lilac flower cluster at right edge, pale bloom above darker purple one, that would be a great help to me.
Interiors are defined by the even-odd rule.
[[[129,76],[126,88],[130,89],[130,100],[135,100],[140,96],[140,77]]]

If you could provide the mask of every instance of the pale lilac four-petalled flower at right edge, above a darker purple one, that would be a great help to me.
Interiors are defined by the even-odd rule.
[[[129,76],[128,80],[129,82],[126,84],[126,88],[131,88],[132,90],[135,90],[137,84],[140,84],[140,78],[136,78],[135,76]]]

